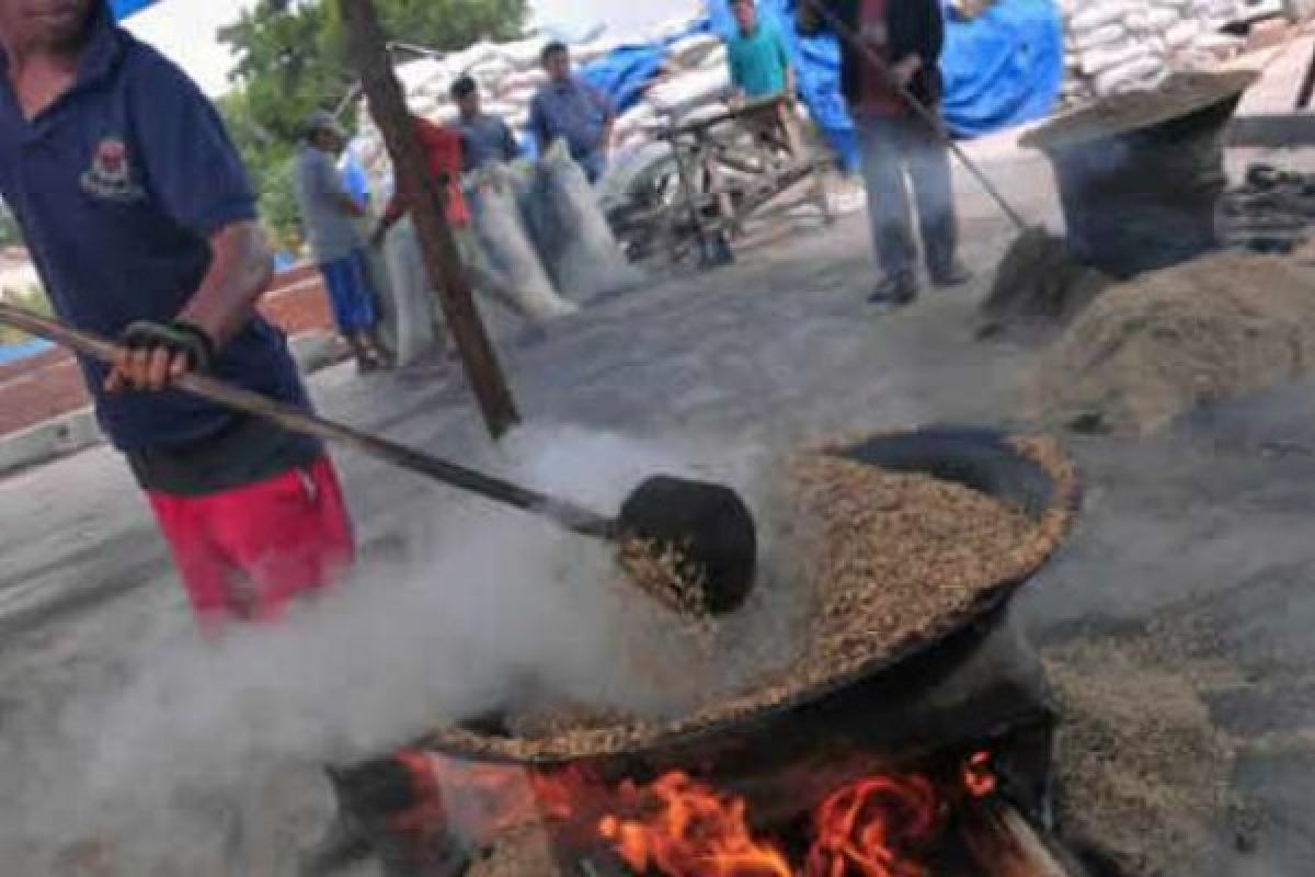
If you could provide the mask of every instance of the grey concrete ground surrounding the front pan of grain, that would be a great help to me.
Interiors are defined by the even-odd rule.
[[[974,150],[1024,213],[1057,225],[1044,163],[1009,138]],[[534,440],[568,440],[556,426],[614,433],[746,477],[746,460],[814,437],[928,422],[1020,426],[1020,385],[1035,351],[973,339],[976,302],[1013,229],[963,178],[964,258],[978,272],[970,288],[928,292],[907,313],[880,316],[864,301],[873,275],[863,216],[801,231],[735,267],[600,302],[542,342],[505,350]],[[458,379],[423,371],[359,379],[335,368],[313,388],[329,417],[455,459],[510,465],[489,448]],[[1231,669],[1201,692],[1214,724],[1239,744],[1235,784],[1251,806],[1251,852],[1222,859],[1211,849],[1181,874],[1315,873],[1310,389],[1282,388],[1149,440],[1069,437],[1088,485],[1082,522],[1020,597],[1044,643],[1093,632],[1144,638],[1191,622],[1198,646]],[[360,456],[338,460],[373,559],[367,565],[423,554],[412,534],[454,494]],[[80,705],[130,688],[143,663],[168,660],[192,631],[164,547],[112,452],[0,481],[0,852],[5,873],[36,876],[49,872],[12,864],[39,860],[28,845],[32,820],[12,828],[34,801],[67,797],[60,784],[78,777],[68,764],[47,769],[43,744],[58,755],[79,722],[95,736],[101,714]],[[500,611],[510,618],[517,607]],[[373,635],[391,628],[385,618]],[[205,719],[217,736],[227,722],[254,721]],[[1232,839],[1233,828],[1220,826],[1220,845]],[[285,873],[279,861],[242,873]]]

